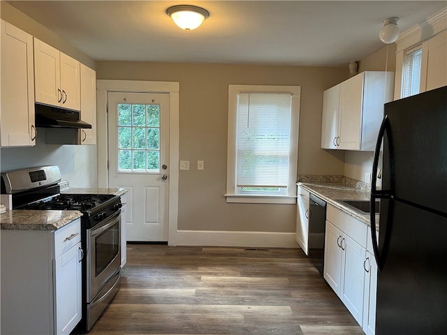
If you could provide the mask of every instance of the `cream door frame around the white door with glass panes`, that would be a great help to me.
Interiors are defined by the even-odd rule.
[[[140,80],[96,80],[96,143],[98,187],[108,188],[108,94],[138,92],[169,94],[169,198],[168,245],[177,246],[179,198],[179,82],[148,82]]]

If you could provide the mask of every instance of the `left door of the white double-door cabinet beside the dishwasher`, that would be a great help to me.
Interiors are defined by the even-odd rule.
[[[326,221],[323,277],[338,296],[342,279],[342,248],[339,244],[341,240],[342,232]]]

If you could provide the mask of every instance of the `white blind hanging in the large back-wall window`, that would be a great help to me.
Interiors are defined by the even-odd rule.
[[[237,96],[236,186],[287,188],[291,151],[292,96]]]

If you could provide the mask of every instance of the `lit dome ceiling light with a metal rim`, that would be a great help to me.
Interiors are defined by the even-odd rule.
[[[206,9],[190,5],[172,6],[166,10],[166,14],[173,19],[177,26],[186,31],[196,29],[203,20],[210,16]]]

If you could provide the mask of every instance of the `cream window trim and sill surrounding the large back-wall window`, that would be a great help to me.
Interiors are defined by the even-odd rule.
[[[286,93],[292,96],[291,151],[289,156],[288,187],[284,195],[237,193],[236,186],[236,125],[237,95],[241,93]],[[228,149],[226,202],[296,204],[296,177],[298,172],[298,139],[300,126],[300,86],[239,85],[228,87]]]

